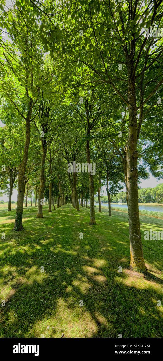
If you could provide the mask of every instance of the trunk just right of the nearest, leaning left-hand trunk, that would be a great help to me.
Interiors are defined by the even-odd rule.
[[[42,143],[42,157],[41,157],[41,171],[40,171],[40,187],[38,197],[38,214],[36,218],[43,218],[43,204],[44,204],[44,188],[45,188],[45,158],[47,154],[47,148],[45,144],[46,140],[41,139]]]

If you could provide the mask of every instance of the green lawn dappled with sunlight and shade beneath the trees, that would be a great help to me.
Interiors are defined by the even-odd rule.
[[[24,209],[22,232],[12,231],[16,210],[0,210],[0,336],[163,337],[163,241],[144,240],[163,221],[140,216],[143,275],[129,270],[128,214],[96,207],[89,226],[89,209],[43,208],[42,219]]]

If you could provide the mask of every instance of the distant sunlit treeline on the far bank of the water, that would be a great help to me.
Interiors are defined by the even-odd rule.
[[[126,192],[119,192],[114,196],[110,196],[112,203],[126,203]],[[98,202],[98,197],[94,198]],[[142,188],[138,189],[139,203],[163,203],[163,183],[158,184],[155,188]],[[107,196],[101,196],[102,203],[108,203]]]

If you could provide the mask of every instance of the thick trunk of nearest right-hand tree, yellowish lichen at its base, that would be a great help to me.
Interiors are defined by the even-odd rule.
[[[145,270],[142,240],[140,232],[140,220],[138,209],[137,188],[137,116],[135,97],[135,78],[130,74],[133,66],[128,67],[128,142],[127,142],[127,193],[128,193],[128,222],[130,240],[130,266],[133,269]]]

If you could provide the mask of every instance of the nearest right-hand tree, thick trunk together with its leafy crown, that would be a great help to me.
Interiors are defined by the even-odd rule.
[[[141,270],[146,267],[138,212],[137,141],[142,122],[150,109],[147,102],[163,83],[162,70],[159,70],[163,52],[161,39],[156,36],[158,31],[151,37],[147,36],[151,27],[162,25],[162,9],[162,1],[155,0],[150,3],[135,1],[134,4],[130,0],[128,4],[85,0],[76,1],[74,4],[70,1],[59,12],[57,23],[62,38],[60,47],[68,58],[67,63],[73,60],[75,66],[80,62],[83,69],[88,67],[99,81],[114,89],[117,97],[123,101],[124,108],[128,109],[128,140],[124,156],[130,265]],[[60,28],[61,18],[65,31]],[[79,23],[82,31],[78,27]],[[50,25],[52,27],[52,24]],[[52,41],[49,45],[51,44]],[[50,47],[52,49],[52,46]],[[63,56],[60,56],[59,66],[62,62]],[[155,102],[153,97],[153,104]]]

